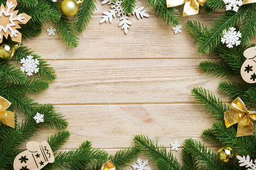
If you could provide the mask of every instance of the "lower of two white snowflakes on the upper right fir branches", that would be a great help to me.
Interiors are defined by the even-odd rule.
[[[233,45],[240,45],[241,41],[239,40],[242,37],[240,31],[236,31],[236,28],[230,27],[227,30],[223,31],[223,38],[221,38],[221,42],[223,44],[227,44],[228,48],[233,48]]]

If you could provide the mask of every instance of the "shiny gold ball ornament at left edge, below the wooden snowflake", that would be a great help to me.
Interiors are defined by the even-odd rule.
[[[3,60],[10,60],[12,59],[14,52],[20,45],[6,45],[0,44],[0,58]]]

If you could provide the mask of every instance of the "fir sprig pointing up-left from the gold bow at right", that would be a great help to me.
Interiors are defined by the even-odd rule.
[[[224,112],[228,110],[228,107],[219,98],[216,98],[214,94],[206,91],[202,87],[194,87],[192,96],[195,98],[195,101],[204,106],[205,110],[211,113],[216,120],[224,120]]]

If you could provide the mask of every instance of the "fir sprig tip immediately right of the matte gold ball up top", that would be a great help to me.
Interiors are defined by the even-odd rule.
[[[76,22],[74,23],[76,31],[83,32],[92,19],[93,11],[96,10],[95,0],[84,0],[79,11],[76,14]]]

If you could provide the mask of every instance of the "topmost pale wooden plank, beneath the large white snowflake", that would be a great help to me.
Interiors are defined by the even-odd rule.
[[[214,16],[214,15],[213,15]],[[216,15],[215,15],[216,16]],[[24,41],[44,59],[156,59],[156,58],[202,58],[196,52],[195,43],[188,32],[186,22],[199,20],[202,23],[211,24],[214,17],[209,15],[196,15],[195,17],[182,17],[182,34],[174,34],[172,27],[166,25],[156,15],[150,18],[137,20],[131,17],[131,28],[128,34],[118,27],[119,18],[115,18],[111,24],[99,24],[101,17],[93,16],[86,31],[79,35],[80,45],[77,48],[65,46],[60,36],[47,36],[46,29],[35,39]],[[44,48],[42,48],[44,46]]]

